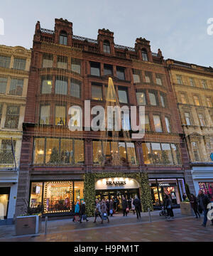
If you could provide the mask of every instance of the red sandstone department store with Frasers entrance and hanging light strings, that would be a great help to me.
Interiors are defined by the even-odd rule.
[[[127,141],[100,139],[99,132],[70,132],[72,105],[106,105],[109,77],[120,105],[146,106],[146,135]],[[76,124],[73,124],[74,126]],[[84,123],[83,123],[84,127]],[[101,150],[100,150],[101,149]],[[102,159],[108,161],[104,166]],[[95,180],[98,198],[140,194],[128,174],[146,172],[154,208],[171,194],[178,206],[185,183],[193,190],[175,93],[162,53],[137,38],[134,48],[114,43],[114,33],[99,29],[97,40],[75,36],[72,23],[55,19],[55,30],[35,26],[18,178],[16,215],[43,206],[43,213],[66,214],[84,200],[84,174]],[[109,176],[106,174],[109,173]],[[110,176],[110,174],[122,174]],[[126,176],[125,176],[126,175]],[[24,205],[23,201],[26,202]]]

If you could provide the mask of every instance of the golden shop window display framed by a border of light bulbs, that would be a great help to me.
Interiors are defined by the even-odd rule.
[[[72,186],[72,181],[45,183],[44,212],[70,212],[72,210]]]

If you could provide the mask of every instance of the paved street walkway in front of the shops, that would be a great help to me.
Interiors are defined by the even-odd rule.
[[[0,242],[163,242],[163,241],[190,241],[212,242],[213,227],[208,221],[207,227],[201,226],[202,218],[184,217],[180,210],[175,211],[175,219],[165,221],[158,212],[151,213],[152,222],[148,214],[143,213],[141,220],[136,215],[127,217],[115,215],[110,223],[99,221],[93,223],[73,223],[71,219],[51,220],[48,222],[48,234],[44,234],[45,223],[39,235],[16,237],[14,225],[0,227]]]

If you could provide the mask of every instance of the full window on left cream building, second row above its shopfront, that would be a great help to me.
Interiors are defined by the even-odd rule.
[[[4,127],[9,129],[17,129],[18,121],[19,121],[19,107],[15,105],[7,106]]]

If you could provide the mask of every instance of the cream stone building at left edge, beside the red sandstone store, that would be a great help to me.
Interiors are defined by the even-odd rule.
[[[0,46],[0,225],[12,223],[16,208],[30,64],[31,50]]]

